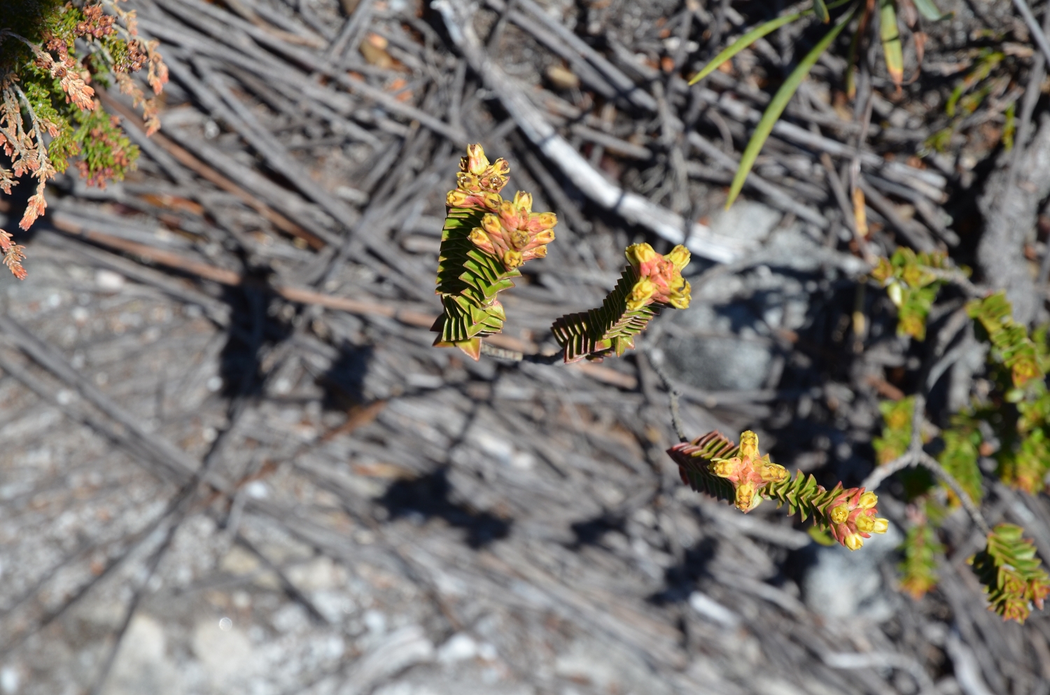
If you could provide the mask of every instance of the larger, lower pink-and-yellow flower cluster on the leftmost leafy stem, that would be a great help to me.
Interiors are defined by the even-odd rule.
[[[481,218],[481,227],[474,228],[470,240],[503,261],[504,268],[514,270],[526,260],[547,255],[556,224],[553,212],[532,212],[532,196],[518,191],[513,203],[503,201],[497,214]]]

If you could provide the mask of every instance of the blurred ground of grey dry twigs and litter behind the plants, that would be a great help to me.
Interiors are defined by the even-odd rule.
[[[1043,190],[1050,172],[1050,83],[1011,3],[939,0],[953,14],[906,46],[901,93],[879,46],[863,55],[864,128],[844,37],[728,211],[771,90],[824,29],[687,79],[786,3],[126,6],[171,71],[162,128],[145,138],[100,88],[138,170],[105,189],[59,176],[18,237],[28,279],[0,274],[0,692],[1050,692],[1050,622],[987,611],[961,512],[915,601],[897,590],[898,483],[890,532],[853,553],[772,504],[739,514],[680,483],[656,374],[689,437],[755,429],[828,485],[870,472],[879,400],[914,389],[923,353],[858,282],[836,185],[857,162],[874,253],[981,267],[1007,174]],[[991,48],[985,98],[948,115]],[[553,352],[551,321],[597,306],[631,243],[688,244],[690,309],[601,364],[432,348],[444,195],[475,142],[510,163],[504,196],[559,216],[494,344]],[[0,197],[0,226],[30,192]],[[1047,255],[1040,212],[1023,272]],[[966,344],[939,407],[983,368]],[[1045,496],[1000,485],[986,513],[1048,556]]]

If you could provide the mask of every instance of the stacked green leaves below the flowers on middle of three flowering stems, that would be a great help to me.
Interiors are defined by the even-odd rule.
[[[634,336],[645,330],[663,307],[653,303],[628,310],[627,300],[637,281],[634,268],[627,266],[602,307],[582,314],[567,314],[554,321],[550,330],[565,352],[566,362],[584,357],[601,359],[609,353],[618,357],[634,348]]]

